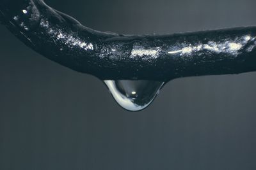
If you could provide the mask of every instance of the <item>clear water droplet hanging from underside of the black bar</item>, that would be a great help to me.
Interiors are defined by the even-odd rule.
[[[147,108],[157,96],[164,82],[150,80],[104,80],[115,101],[125,110]]]

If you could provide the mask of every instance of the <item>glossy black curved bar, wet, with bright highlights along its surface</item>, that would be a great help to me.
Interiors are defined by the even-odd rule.
[[[164,36],[93,31],[42,0],[0,0],[1,22],[48,59],[102,80],[256,71],[256,27]]]

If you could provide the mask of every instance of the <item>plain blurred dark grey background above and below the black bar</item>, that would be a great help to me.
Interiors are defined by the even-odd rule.
[[[256,23],[255,0],[46,3],[125,34]],[[97,78],[45,59],[2,25],[0,37],[1,170],[256,169],[256,73],[173,80],[131,113]]]

